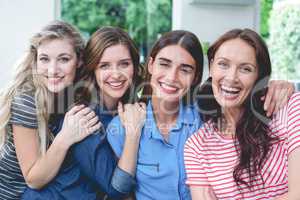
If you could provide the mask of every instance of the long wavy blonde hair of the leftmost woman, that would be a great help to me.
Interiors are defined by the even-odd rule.
[[[12,82],[0,92],[0,148],[7,137],[7,125],[11,117],[14,96],[30,92],[36,104],[40,153],[45,154],[49,141],[53,138],[48,129],[49,109],[53,102],[51,101],[52,94],[36,73],[36,61],[39,46],[45,41],[55,39],[69,39],[74,46],[77,59],[81,59],[85,46],[84,40],[79,31],[66,22],[53,21],[31,38],[29,49],[17,65]]]

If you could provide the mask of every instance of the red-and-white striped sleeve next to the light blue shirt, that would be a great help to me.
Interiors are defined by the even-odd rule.
[[[184,164],[187,175],[186,184],[189,186],[209,186],[202,158],[199,153],[198,133],[192,135],[185,143]]]

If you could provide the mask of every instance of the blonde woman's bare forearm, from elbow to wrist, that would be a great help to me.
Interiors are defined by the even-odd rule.
[[[29,187],[40,189],[49,183],[58,173],[69,145],[57,136],[45,155],[40,156],[33,164],[26,175],[26,182]]]

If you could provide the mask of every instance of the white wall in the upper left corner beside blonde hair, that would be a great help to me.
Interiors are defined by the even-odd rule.
[[[59,5],[58,0],[0,0],[0,88],[10,80],[30,37],[59,17]]]

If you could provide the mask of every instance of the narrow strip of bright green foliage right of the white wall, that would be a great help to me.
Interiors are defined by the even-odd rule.
[[[260,3],[260,34],[269,37],[269,17],[272,10],[273,0],[261,0]]]

